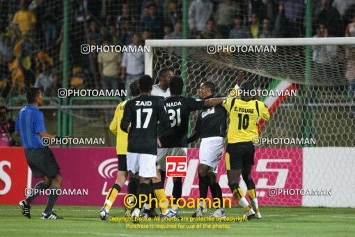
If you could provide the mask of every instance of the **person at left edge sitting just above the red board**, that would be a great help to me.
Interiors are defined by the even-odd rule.
[[[0,146],[15,146],[15,122],[8,118],[8,108],[0,106]]]

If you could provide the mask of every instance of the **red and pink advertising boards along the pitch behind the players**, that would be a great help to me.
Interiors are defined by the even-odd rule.
[[[6,148],[0,148],[0,204],[17,204],[24,198],[27,165],[22,148],[8,149],[13,150],[5,153]],[[116,148],[52,148],[52,151],[61,167],[62,190],[75,190],[77,194],[74,196],[68,192],[58,198],[57,204],[102,206],[109,188],[116,181],[118,169]],[[8,162],[10,162],[10,167]],[[188,149],[187,164],[187,176],[183,178],[182,197],[197,198],[198,148]],[[262,206],[301,206],[301,196],[275,195],[273,190],[301,189],[302,172],[302,148],[256,148],[252,176],[257,187],[259,204]],[[8,178],[12,181],[10,191],[7,191]],[[232,197],[228,187],[224,156],[219,164],[218,180],[223,196]],[[40,179],[32,178],[31,187],[38,181]],[[127,183],[118,195],[115,206],[123,206]],[[240,186],[245,192],[244,182],[241,182]],[[2,194],[4,190],[6,193]],[[173,178],[166,177],[166,193],[171,195],[172,190]],[[33,204],[46,203],[47,197],[45,196],[40,196],[33,201]],[[238,205],[237,201],[233,204]]]

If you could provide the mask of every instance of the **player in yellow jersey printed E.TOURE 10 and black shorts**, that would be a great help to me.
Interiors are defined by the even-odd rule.
[[[261,116],[263,120],[268,121],[270,114],[263,102],[253,100],[251,96],[248,96],[253,90],[251,82],[243,82],[240,85],[240,89],[242,93],[240,99],[228,98],[222,104],[229,112],[230,117],[228,145],[226,148],[228,185],[233,197],[239,201],[240,206],[246,208],[244,217],[255,216],[260,219],[255,183],[253,178],[251,178],[251,167],[254,165],[254,145],[252,140],[254,137],[259,137],[259,117]],[[238,181],[241,174],[248,188],[248,195],[255,211],[246,201],[242,189],[239,188]]]

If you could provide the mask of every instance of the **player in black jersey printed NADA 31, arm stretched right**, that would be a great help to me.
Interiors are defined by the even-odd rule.
[[[184,82],[181,77],[171,77],[169,89],[171,96],[164,100],[166,111],[168,112],[173,132],[167,136],[160,136],[161,149],[158,151],[157,164],[161,175],[162,183],[164,183],[166,171],[167,156],[187,156],[187,132],[189,129],[189,116],[192,111],[211,107],[222,102],[223,98],[214,98],[210,100],[196,100],[181,96]],[[173,178],[173,210],[178,213],[176,201],[182,194],[182,178]]]

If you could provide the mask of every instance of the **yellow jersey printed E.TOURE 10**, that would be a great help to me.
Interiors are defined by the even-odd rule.
[[[228,143],[251,142],[253,137],[259,137],[259,116],[265,121],[270,119],[269,110],[259,100],[228,98],[222,105],[230,114]]]

